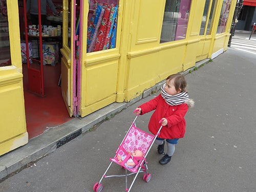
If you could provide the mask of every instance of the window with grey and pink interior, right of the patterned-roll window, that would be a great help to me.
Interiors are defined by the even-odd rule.
[[[160,42],[185,39],[191,0],[166,0]]]

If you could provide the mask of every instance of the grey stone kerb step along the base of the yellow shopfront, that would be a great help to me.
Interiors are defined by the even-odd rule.
[[[226,53],[224,53],[224,55],[225,54]],[[207,62],[209,62],[209,59],[200,61],[196,63],[195,68],[198,69],[200,66],[206,64]],[[193,71],[193,69],[189,70]],[[189,70],[187,70],[183,74],[186,75]],[[226,73],[229,73],[229,71],[226,71]],[[232,78],[230,79],[230,81],[232,81]],[[201,80],[203,81],[203,79]],[[143,95],[132,100],[131,102],[113,103],[84,118],[75,118],[65,124],[55,127],[54,129],[48,130],[40,136],[30,139],[28,144],[1,156],[0,181],[4,180],[12,174],[18,173],[19,170],[29,166],[31,163],[37,161],[40,158],[47,156],[48,154],[56,150],[56,148],[62,146],[63,144],[66,144],[77,136],[86,133],[87,131],[90,131],[93,126],[99,124],[106,119],[111,118],[112,116],[126,109],[128,106],[134,104],[135,102],[150,96],[151,93],[161,88],[163,82],[164,81],[158,83],[155,87],[146,90]]]

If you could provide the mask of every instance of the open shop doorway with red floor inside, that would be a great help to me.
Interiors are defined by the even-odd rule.
[[[25,24],[24,24],[24,2],[19,2],[19,25],[20,25],[20,39],[21,42],[25,40]],[[52,1],[59,13],[62,11],[62,0]],[[29,15],[29,13],[27,14]],[[51,10],[47,10],[47,26],[55,28],[61,25],[61,14],[53,15]],[[31,18],[28,17],[27,22],[31,24]],[[40,45],[40,44],[39,44]],[[24,99],[25,99],[25,113],[26,124],[29,139],[36,137],[49,129],[53,129],[60,124],[70,121],[72,118],[67,112],[65,102],[61,94],[61,62],[59,49],[62,46],[62,38],[47,38],[42,42],[42,53],[44,65],[40,66],[38,62],[38,40],[34,38],[29,39],[28,52],[31,52],[29,65],[35,70],[43,70],[44,75],[44,96],[32,93],[29,89],[29,75],[27,59],[23,59],[23,84],[24,84]],[[49,53],[49,47],[54,50]],[[26,50],[22,49],[22,53]],[[58,54],[58,55],[56,55]],[[26,54],[25,54],[26,57]],[[54,59],[54,60],[52,60]],[[31,83],[31,81],[30,81]]]

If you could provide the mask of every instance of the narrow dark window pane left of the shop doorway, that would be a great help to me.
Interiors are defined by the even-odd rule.
[[[6,0],[0,0],[0,67],[11,66],[9,27]]]

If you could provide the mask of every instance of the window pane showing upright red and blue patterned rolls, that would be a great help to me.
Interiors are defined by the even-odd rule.
[[[87,52],[116,47],[118,0],[90,1]]]

